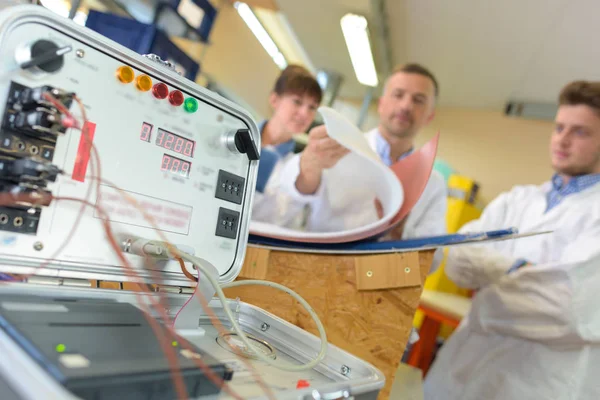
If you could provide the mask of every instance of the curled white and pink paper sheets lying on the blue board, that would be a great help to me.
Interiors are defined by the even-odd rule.
[[[423,193],[433,169],[437,136],[423,149],[389,168],[371,149],[364,134],[344,116],[327,107],[320,108],[319,112],[329,138],[322,127],[313,133],[314,145],[322,143],[316,150],[332,149],[330,141],[333,139],[350,151],[342,154],[329,169],[324,167],[330,164],[312,159],[317,165],[315,169],[323,168],[320,182],[325,185],[323,192],[328,207],[327,212],[320,210],[326,219],[324,228],[300,231],[253,221],[252,234],[297,242],[342,243],[366,239],[402,221]],[[315,156],[315,153],[310,154],[312,150],[306,161]],[[332,153],[339,156],[342,152]],[[381,204],[380,215],[376,199]]]

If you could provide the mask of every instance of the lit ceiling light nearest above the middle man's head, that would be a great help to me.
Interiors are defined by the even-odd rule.
[[[371,52],[366,18],[360,15],[346,14],[342,17],[341,25],[356,79],[363,85],[377,86],[379,80]]]

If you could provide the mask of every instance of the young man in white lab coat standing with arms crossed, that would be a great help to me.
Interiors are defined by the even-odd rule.
[[[426,400],[600,399],[600,82],[567,85],[559,103],[556,175],[500,195],[462,229],[552,233],[450,251],[448,277],[478,292]]]

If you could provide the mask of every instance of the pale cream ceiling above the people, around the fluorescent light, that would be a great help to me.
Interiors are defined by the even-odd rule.
[[[361,13],[373,29],[370,1],[277,3],[312,63],[345,76],[341,96],[362,97],[339,21]],[[502,109],[509,97],[554,102],[570,80],[600,80],[598,0],[387,0],[386,14],[393,63],[429,67],[444,106]]]

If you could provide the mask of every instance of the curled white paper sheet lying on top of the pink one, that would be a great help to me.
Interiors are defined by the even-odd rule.
[[[333,168],[324,171],[332,208],[326,232],[309,232],[252,221],[250,233],[284,240],[340,242],[368,237],[380,231],[398,213],[404,200],[397,176],[371,149],[365,135],[337,111],[321,107],[329,136],[351,150]],[[378,218],[375,199],[383,206]]]

